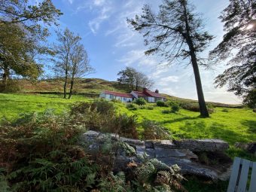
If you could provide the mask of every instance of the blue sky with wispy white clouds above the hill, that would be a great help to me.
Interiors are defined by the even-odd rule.
[[[163,66],[160,56],[145,56],[147,49],[143,37],[126,23],[126,18],[134,18],[142,13],[142,6],[151,5],[157,11],[160,0],[53,0],[63,15],[59,19],[59,28],[68,27],[79,34],[90,58],[90,65],[96,72],[88,78],[102,78],[116,81],[117,73],[126,66],[145,73],[154,81],[152,90],[187,99],[197,99],[193,69],[179,63]],[[222,39],[223,25],[218,19],[221,11],[227,7],[228,0],[190,0],[195,11],[203,14],[205,29],[215,35],[209,49],[203,52],[207,56]],[[52,31],[56,29],[53,27]],[[54,35],[51,37],[52,40]],[[228,93],[226,87],[215,88],[214,79],[224,71],[225,63],[218,63],[214,69],[200,69],[203,91],[206,101],[240,103],[241,99]]]

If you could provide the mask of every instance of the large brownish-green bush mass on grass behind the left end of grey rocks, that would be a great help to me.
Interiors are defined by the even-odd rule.
[[[127,104],[127,107],[135,108],[133,103]],[[113,102],[105,100],[95,100],[93,102],[76,103],[71,114],[75,116],[78,122],[83,122],[88,130],[96,130],[105,133],[117,133],[120,136],[126,136],[137,139],[136,116],[127,116],[126,114],[117,114]]]

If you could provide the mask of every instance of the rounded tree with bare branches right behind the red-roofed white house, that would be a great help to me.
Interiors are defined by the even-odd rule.
[[[117,81],[120,84],[129,85],[131,90],[139,90],[140,87],[150,88],[154,84],[145,74],[136,71],[132,67],[126,67],[126,69],[118,72],[117,75],[120,76],[120,78],[117,78]]]

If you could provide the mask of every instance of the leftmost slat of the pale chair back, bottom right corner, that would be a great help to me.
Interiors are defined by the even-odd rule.
[[[227,192],[235,191],[240,163],[241,163],[241,159],[239,157],[235,157],[235,160],[233,161],[232,172],[230,175],[230,183],[228,184],[228,187],[227,187]]]

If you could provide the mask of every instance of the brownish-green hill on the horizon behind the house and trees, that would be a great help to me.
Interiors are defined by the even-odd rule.
[[[47,79],[38,81],[35,84],[32,84],[29,81],[20,80],[18,81],[22,92],[24,93],[40,93],[40,94],[61,94],[63,91],[64,81],[62,79]],[[100,78],[79,78],[75,82],[74,92],[75,94],[84,95],[91,98],[99,97],[99,93],[102,90],[112,90],[118,91],[122,93],[129,93],[130,89],[126,87],[126,85],[118,84],[117,81],[106,81]],[[194,102],[197,100],[193,99],[183,99],[175,96],[169,96],[167,94],[163,94],[167,99],[175,100],[178,102]],[[219,107],[230,107],[230,108],[241,108],[242,105],[229,105],[218,102],[208,102],[214,106]]]

